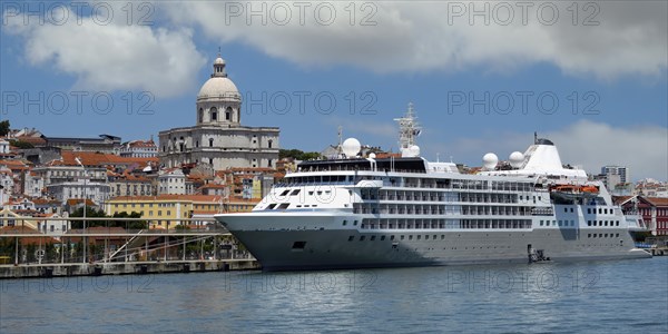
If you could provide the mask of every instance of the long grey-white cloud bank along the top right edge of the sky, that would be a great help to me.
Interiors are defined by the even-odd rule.
[[[183,1],[165,8],[174,22],[196,26],[209,38],[240,41],[305,67],[511,71],[552,63],[569,75],[607,80],[662,76],[668,66],[665,1],[320,3]],[[489,24],[475,10],[487,13]],[[325,20],[330,12],[335,18]]]

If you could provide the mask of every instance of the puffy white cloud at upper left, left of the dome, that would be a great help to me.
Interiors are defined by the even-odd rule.
[[[99,17],[78,17],[72,8],[58,9],[66,11],[67,20],[40,23],[32,18],[26,24],[17,16],[7,31],[24,39],[24,58],[31,65],[75,76],[75,88],[173,97],[198,84],[196,73],[206,59],[196,50],[190,29],[128,24],[119,6],[108,23],[100,23]]]

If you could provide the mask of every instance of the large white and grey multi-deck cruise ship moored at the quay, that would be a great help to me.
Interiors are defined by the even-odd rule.
[[[396,119],[401,157],[360,157],[358,140],[336,159],[301,163],[245,214],[220,222],[264,271],[405,267],[641,258],[639,216],[613,205],[601,181],[563,166],[538,138],[477,173],[420,157],[412,106]]]

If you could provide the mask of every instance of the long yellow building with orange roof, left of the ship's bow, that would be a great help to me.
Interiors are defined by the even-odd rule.
[[[109,216],[117,213],[139,213],[149,220],[151,228],[169,228],[188,225],[178,219],[193,217],[213,217],[217,213],[249,212],[259,200],[232,199],[223,200],[217,195],[158,195],[158,196],[119,196],[105,203],[105,213]]]

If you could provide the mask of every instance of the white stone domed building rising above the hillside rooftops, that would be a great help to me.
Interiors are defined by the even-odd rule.
[[[196,106],[195,126],[159,132],[160,165],[209,164],[214,170],[275,167],[279,129],[242,126],[242,95],[227,78],[219,53],[214,72],[197,94]]]

